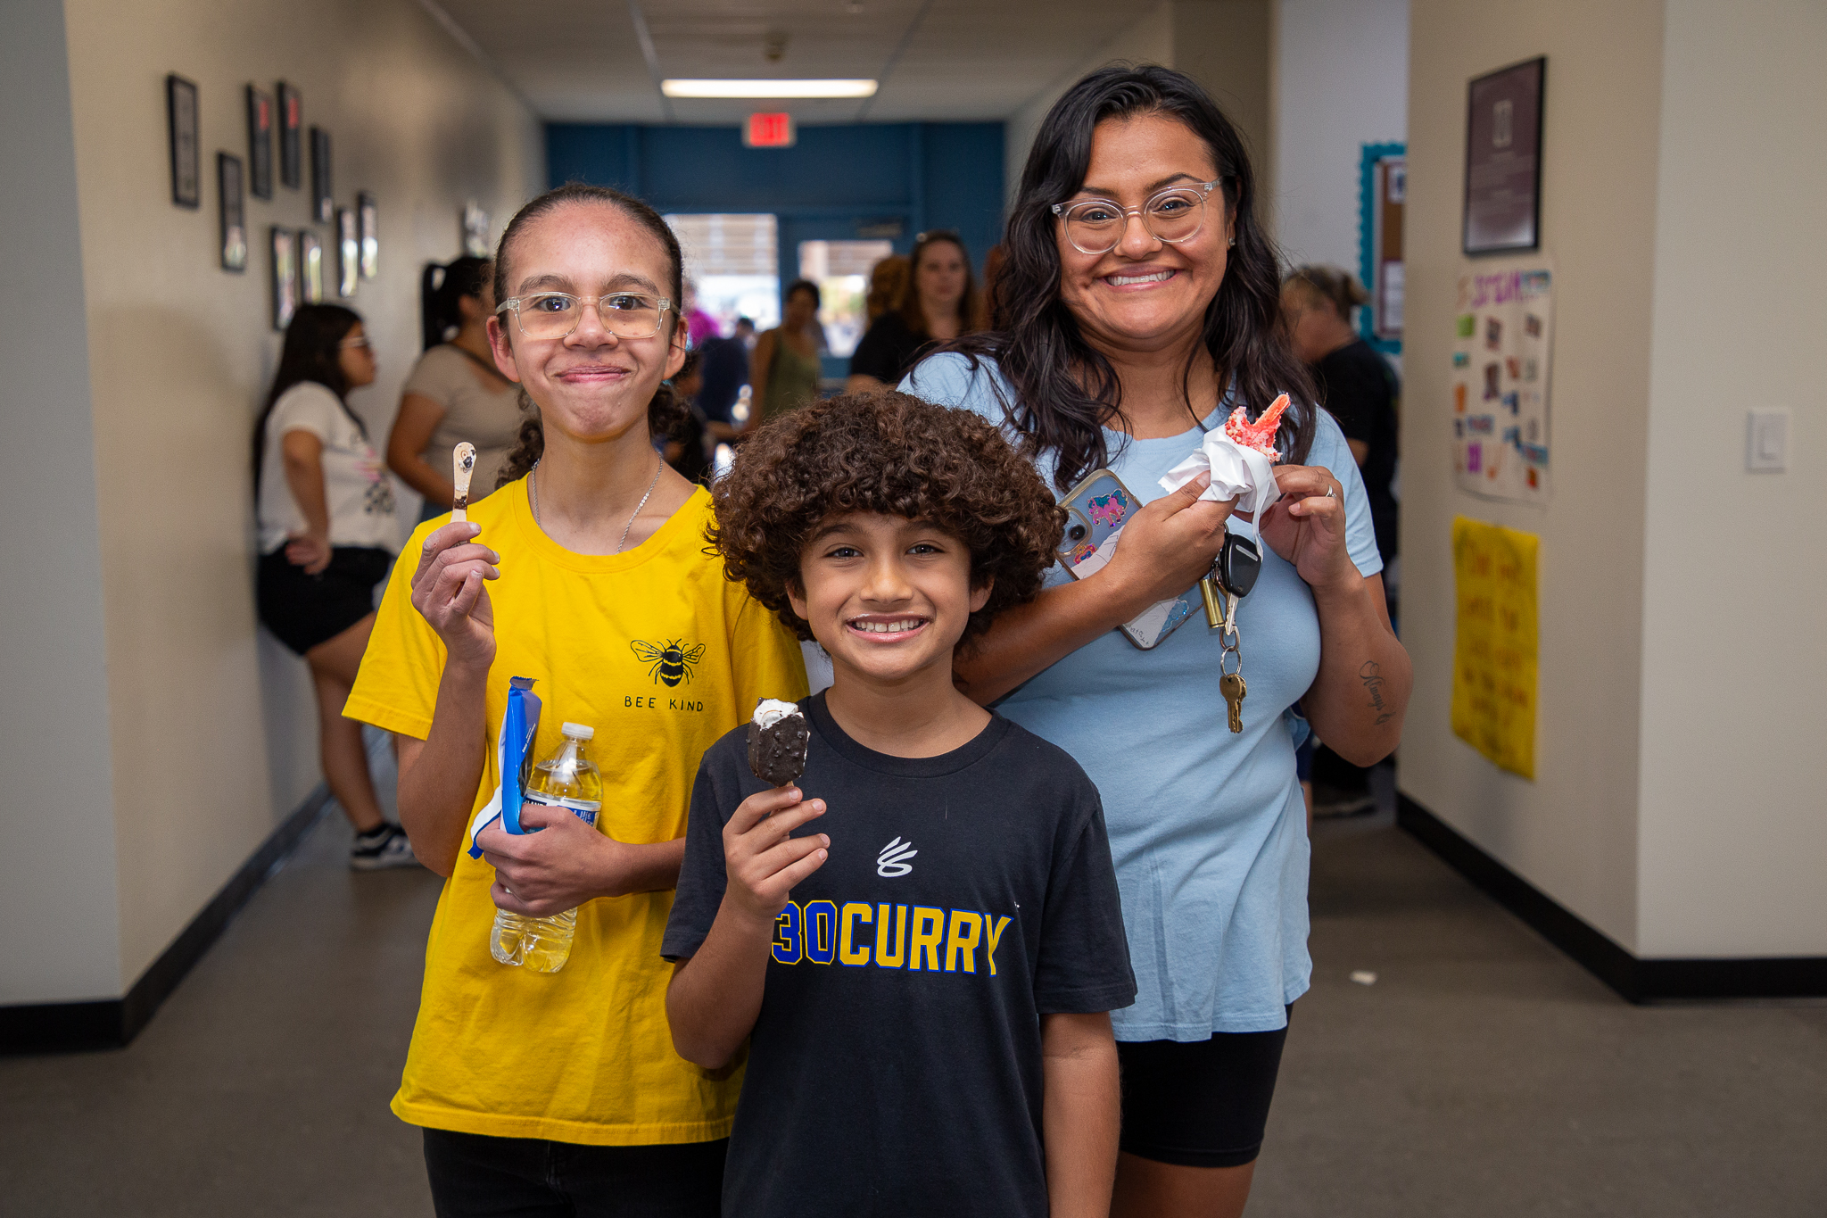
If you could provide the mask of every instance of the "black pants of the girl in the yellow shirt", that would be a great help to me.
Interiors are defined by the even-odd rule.
[[[428,1129],[438,1218],[718,1218],[729,1139],[581,1147]]]

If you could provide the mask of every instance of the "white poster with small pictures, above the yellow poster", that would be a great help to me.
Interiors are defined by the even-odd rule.
[[[1547,502],[1547,367],[1555,272],[1542,263],[1460,276],[1452,343],[1452,469],[1489,499]]]

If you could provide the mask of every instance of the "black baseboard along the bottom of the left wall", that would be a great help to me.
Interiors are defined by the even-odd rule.
[[[141,973],[121,999],[93,1003],[31,1003],[0,1006],[0,1054],[58,1054],[95,1048],[122,1048],[152,1023],[152,1015],[177,984],[221,937],[261,884],[267,882],[305,833],[331,805],[331,794],[318,783],[303,803],[259,844],[221,891],[190,919],[172,946]]]

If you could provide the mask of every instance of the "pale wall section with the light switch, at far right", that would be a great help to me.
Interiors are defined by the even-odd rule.
[[[1827,955],[1827,9],[1666,7],[1639,946]],[[1750,405],[1792,411],[1789,473],[1745,473]]]

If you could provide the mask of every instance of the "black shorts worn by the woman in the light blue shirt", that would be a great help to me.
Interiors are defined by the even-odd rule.
[[[1286,1039],[1288,1028],[1193,1043],[1118,1041],[1122,1149],[1177,1167],[1253,1163]]]

